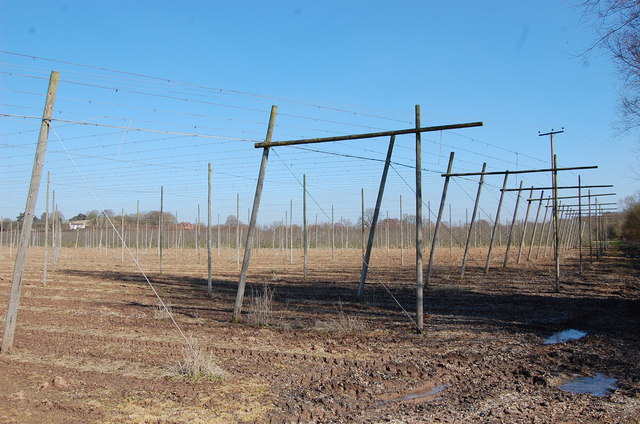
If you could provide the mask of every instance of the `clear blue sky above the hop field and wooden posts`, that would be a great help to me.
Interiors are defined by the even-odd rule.
[[[162,185],[167,211],[193,221],[200,204],[204,217],[211,162],[214,222],[235,214],[238,193],[246,221],[260,161],[252,141],[264,138],[271,104],[279,106],[274,140],[408,128],[415,104],[423,125],[484,121],[424,136],[425,200],[434,209],[450,151],[461,172],[483,162],[544,168],[549,143],[537,132],[563,126],[559,165],[598,165],[581,173],[584,183],[614,184],[622,198],[638,190],[640,143],[615,130],[620,85],[609,58],[579,57],[595,34],[576,3],[3,0],[0,113],[13,116],[0,117],[0,216],[24,209],[39,121],[18,116],[41,115],[52,69],[61,72],[61,121],[45,171],[67,218],[99,209],[83,179],[105,208],[134,213],[139,200],[157,210]],[[300,222],[305,173],[311,221],[328,220],[332,204],[336,219],[355,221],[360,189],[372,207],[382,169],[360,158],[384,159],[387,142],[274,149],[260,223],[284,218],[290,199]],[[398,138],[394,160],[383,213],[395,217],[400,195],[404,211],[415,211],[413,170],[402,166],[413,164],[412,137]],[[562,174],[560,184],[577,175]],[[501,182],[488,180],[485,214]],[[549,183],[548,175],[524,179]],[[473,180],[452,185],[454,220],[464,220],[474,193]]]

